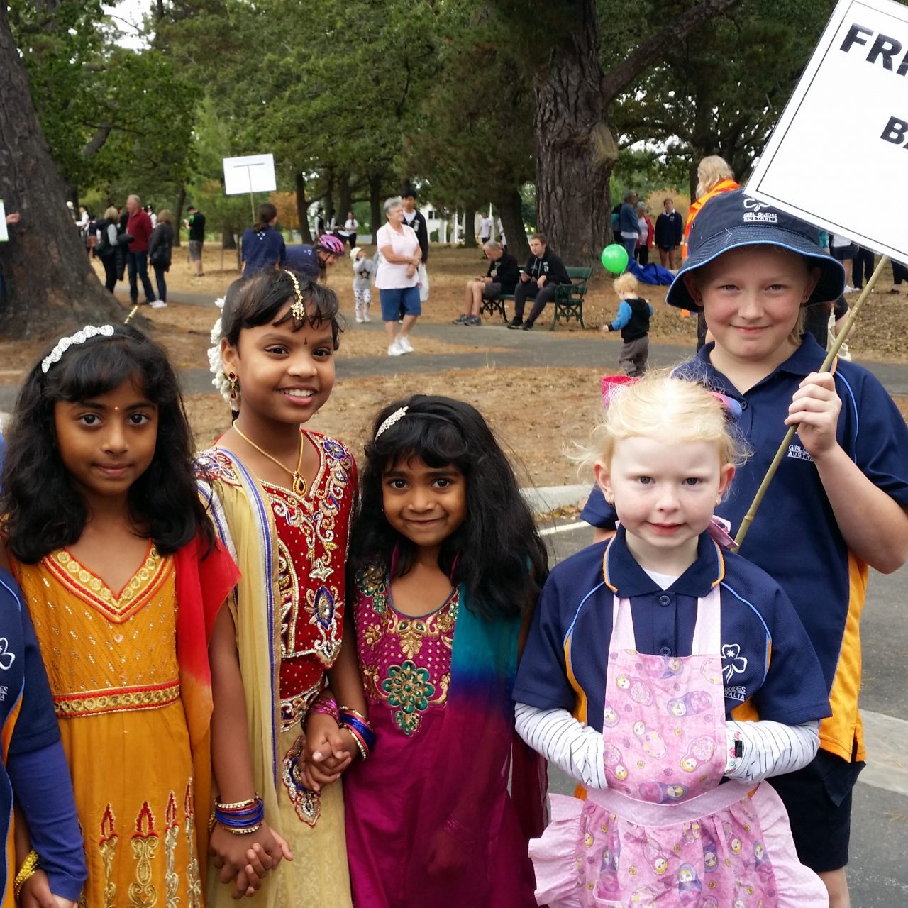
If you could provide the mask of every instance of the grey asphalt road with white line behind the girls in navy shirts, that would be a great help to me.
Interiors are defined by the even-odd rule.
[[[587,524],[545,531],[552,563],[587,546]],[[862,618],[864,686],[861,710],[867,767],[854,789],[848,884],[853,908],[908,906],[908,566],[889,576],[872,572]],[[574,781],[549,770],[549,789],[568,795]]]

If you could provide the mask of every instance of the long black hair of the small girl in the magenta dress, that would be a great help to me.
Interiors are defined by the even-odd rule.
[[[403,417],[376,439],[382,422],[403,407]],[[454,466],[467,481],[467,518],[442,543],[439,568],[467,587],[483,617],[516,617],[532,607],[548,576],[548,553],[514,470],[479,410],[462,400],[415,394],[381,410],[371,437],[350,540],[350,576],[375,562],[390,565],[395,547],[394,576],[410,571],[416,547],[385,518],[381,487],[387,469],[415,458],[431,468]]]

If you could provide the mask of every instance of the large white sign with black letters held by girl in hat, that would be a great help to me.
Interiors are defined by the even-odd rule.
[[[908,262],[908,6],[839,0],[745,192]]]

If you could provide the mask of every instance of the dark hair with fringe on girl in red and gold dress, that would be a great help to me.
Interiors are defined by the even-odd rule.
[[[281,309],[296,299],[294,278],[300,287],[305,316],[298,321],[291,312],[286,312],[279,319]],[[233,281],[228,288],[221,315],[221,336],[235,347],[240,342],[243,328],[257,328],[269,322],[282,325],[285,321],[292,321],[292,331],[300,331],[307,324],[313,328],[330,324],[331,340],[337,350],[343,330],[338,309],[337,294],[301,271],[263,268],[249,277]]]

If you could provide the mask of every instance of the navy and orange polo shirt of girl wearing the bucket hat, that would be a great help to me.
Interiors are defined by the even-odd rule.
[[[820,368],[825,350],[813,337],[772,374],[741,394],[713,368],[707,344],[676,374],[706,380],[741,404],[739,427],[753,455],[738,469],[716,513],[732,525],[734,536],[756,489],[785,436],[785,418],[798,385]],[[854,364],[838,360],[835,390],[842,400],[836,437],[873,485],[901,505],[908,505],[908,427],[883,385]],[[597,527],[614,527],[615,512],[594,489],[581,517]],[[857,725],[860,687],[858,619],[864,607],[867,566],[845,544],[819,473],[795,434],[763,503],[747,532],[741,555],[763,568],[785,590],[804,623],[820,659],[827,689],[832,690],[834,724],[824,723],[824,747],[851,759],[854,741],[863,753]],[[850,619],[850,620],[849,620]]]

